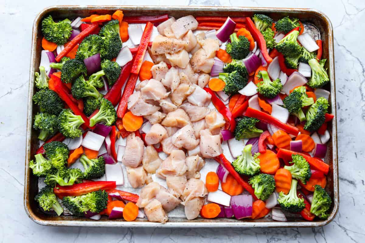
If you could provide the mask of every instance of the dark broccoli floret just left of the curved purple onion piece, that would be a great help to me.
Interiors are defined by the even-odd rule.
[[[76,58],[67,60],[61,68],[61,80],[65,83],[71,83],[80,74],[87,75],[87,70],[83,61]]]

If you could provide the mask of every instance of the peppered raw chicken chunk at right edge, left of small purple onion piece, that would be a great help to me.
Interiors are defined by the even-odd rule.
[[[220,135],[212,135],[209,129],[200,131],[200,152],[203,158],[214,158],[223,153]]]

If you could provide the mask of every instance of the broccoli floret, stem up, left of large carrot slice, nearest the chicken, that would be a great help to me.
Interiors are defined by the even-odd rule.
[[[260,172],[260,159],[257,158],[260,153],[251,154],[252,144],[243,148],[242,154],[232,162],[232,166],[238,173],[246,176],[253,176]]]

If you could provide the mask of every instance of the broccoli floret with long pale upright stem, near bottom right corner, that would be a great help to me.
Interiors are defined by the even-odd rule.
[[[280,192],[279,198],[277,199],[282,209],[293,213],[300,212],[306,207],[304,199],[297,196],[296,193],[297,184],[298,181],[292,179],[292,185],[290,187],[288,195],[285,195],[284,192]]]

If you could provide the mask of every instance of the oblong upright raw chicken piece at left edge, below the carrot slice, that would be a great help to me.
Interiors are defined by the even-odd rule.
[[[132,168],[138,167],[142,162],[144,149],[145,145],[143,144],[142,139],[136,137],[134,133],[129,134],[122,158],[123,165]]]

